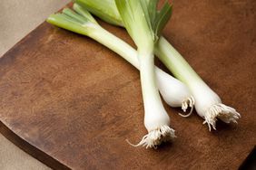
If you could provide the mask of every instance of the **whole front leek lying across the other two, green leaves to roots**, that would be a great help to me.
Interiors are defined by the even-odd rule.
[[[124,27],[138,48],[140,77],[143,90],[144,125],[148,130],[136,146],[155,147],[174,136],[170,118],[163,108],[157,89],[154,71],[154,44],[162,28],[172,14],[172,6],[167,3],[157,11],[157,1],[115,0]]]

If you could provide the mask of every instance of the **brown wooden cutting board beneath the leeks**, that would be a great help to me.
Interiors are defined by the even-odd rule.
[[[256,143],[255,9],[253,0],[177,1],[164,32],[241,112],[239,126],[218,122],[210,133],[202,118],[166,107],[178,136],[172,145],[127,145],[146,133],[138,72],[99,43],[46,23],[0,60],[0,120],[27,150],[74,169],[236,169]],[[123,29],[103,26],[131,42]]]

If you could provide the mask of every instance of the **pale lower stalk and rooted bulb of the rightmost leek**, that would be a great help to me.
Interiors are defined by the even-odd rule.
[[[160,38],[155,53],[172,73],[184,82],[192,91],[195,109],[204,118],[203,124],[216,129],[217,118],[225,123],[237,123],[241,115],[231,107],[222,104],[220,97],[192,70],[192,67],[182,58],[172,45],[163,37]]]

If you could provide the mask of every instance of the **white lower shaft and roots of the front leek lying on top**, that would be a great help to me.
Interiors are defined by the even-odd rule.
[[[143,56],[147,57],[147,55]],[[171,141],[175,135],[174,130],[170,127],[170,118],[162,106],[156,89],[154,66],[150,63],[153,63],[153,57],[149,56],[148,59],[144,58],[140,64],[142,69],[140,73],[143,90],[144,126],[148,134],[143,137],[139,144],[133,146],[156,148],[162,142]],[[148,73],[151,76],[143,76],[143,74]]]

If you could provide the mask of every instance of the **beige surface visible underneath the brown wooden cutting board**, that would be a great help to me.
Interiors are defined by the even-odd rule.
[[[0,3],[0,58],[68,0],[8,0]],[[29,18],[29,19],[28,19]],[[1,170],[50,170],[0,133]]]

